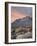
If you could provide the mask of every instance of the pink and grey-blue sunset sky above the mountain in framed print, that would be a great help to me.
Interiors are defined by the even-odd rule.
[[[32,16],[31,7],[11,7],[11,22],[14,22],[16,19],[22,19],[28,15]]]

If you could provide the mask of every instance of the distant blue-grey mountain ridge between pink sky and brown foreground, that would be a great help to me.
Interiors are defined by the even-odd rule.
[[[16,19],[13,23],[11,23],[11,28],[29,25],[32,25],[32,17],[27,16],[22,19]]]

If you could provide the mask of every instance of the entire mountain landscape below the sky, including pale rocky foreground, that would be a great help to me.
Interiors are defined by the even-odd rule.
[[[17,19],[13,23],[11,23],[11,39],[31,38],[31,37],[32,37],[32,17],[27,16],[22,19]]]

